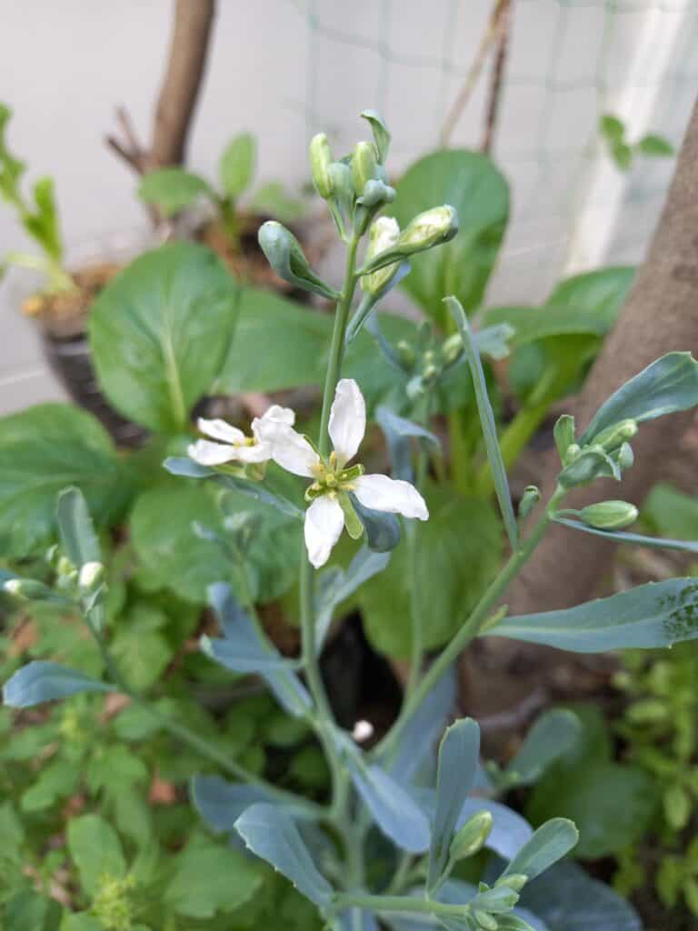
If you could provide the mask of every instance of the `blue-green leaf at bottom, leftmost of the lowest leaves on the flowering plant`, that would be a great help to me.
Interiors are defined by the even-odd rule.
[[[254,804],[237,819],[235,828],[252,853],[283,873],[303,896],[318,908],[329,905],[332,887],[317,870],[288,812],[276,805]]]

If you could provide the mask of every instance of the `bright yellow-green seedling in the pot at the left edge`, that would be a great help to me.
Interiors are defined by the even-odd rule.
[[[41,250],[39,255],[25,252],[8,252],[0,263],[34,268],[46,277],[46,290],[72,290],[73,279],[63,268],[63,240],[60,233],[58,207],[52,178],[38,178],[32,186],[32,195],[22,191],[22,176],[26,165],[10,152],[7,145],[7,125],[12,111],[0,103],[0,196],[17,211],[20,224],[27,236]]]

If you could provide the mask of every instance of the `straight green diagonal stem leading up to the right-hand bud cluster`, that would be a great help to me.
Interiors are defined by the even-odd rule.
[[[468,643],[477,637],[481,627],[487,621],[492,608],[497,601],[503,596],[504,591],[521,571],[525,563],[530,559],[533,550],[541,542],[541,539],[550,523],[551,515],[557,509],[557,504],[565,494],[564,489],[557,488],[556,492],[550,498],[544,514],[535,524],[530,535],[522,540],[517,550],[512,553],[509,560],[503,566],[503,569],[491,582],[490,587],[485,591],[482,598],[477,602],[463,627],[458,631],[449,645],[436,657],[429,670],[423,677],[412,695],[409,695],[405,702],[400,715],[391,728],[390,732],[383,737],[381,743],[376,747],[374,753],[389,753],[395,747],[396,741],[402,733],[403,728],[409,722],[417,708],[420,707],[424,698],[434,688],[436,682],[446,672],[450,665],[455,661],[459,654]]]

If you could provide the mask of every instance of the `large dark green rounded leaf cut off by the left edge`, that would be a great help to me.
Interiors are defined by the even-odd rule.
[[[91,414],[40,404],[0,419],[0,549],[34,555],[55,539],[56,497],[74,485],[98,527],[128,505],[133,486],[114,445]]]

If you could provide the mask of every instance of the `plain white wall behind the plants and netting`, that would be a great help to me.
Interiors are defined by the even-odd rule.
[[[664,17],[681,20],[680,45],[660,75],[662,107],[648,128],[675,142],[698,85],[691,55],[697,6],[661,6]],[[575,197],[596,151],[589,142],[597,115],[617,99],[648,11],[656,15],[658,5],[515,0],[515,8],[497,139],[497,155],[513,184],[514,222],[492,301],[537,300],[556,279]],[[367,106],[380,109],[393,130],[394,167],[406,165],[436,147],[489,9],[489,0],[219,0],[191,166],[213,172],[223,142],[250,129],[259,140],[260,177],[299,185],[309,135],[324,128],[339,149],[348,148],[362,131],[355,115]],[[170,11],[169,0],[2,5],[0,94],[15,110],[10,143],[29,162],[30,177],[50,173],[56,179],[72,250],[96,239],[128,238],[142,227],[134,178],[102,137],[113,128],[120,102],[147,137]],[[484,99],[481,86],[454,142],[477,145]],[[632,122],[632,114],[619,115]],[[670,165],[638,171],[651,176],[651,184],[638,185],[634,174],[625,185],[629,195],[636,191],[628,207],[632,223],[624,228],[621,219],[610,236],[611,251],[621,244],[623,261],[641,254]],[[0,255],[23,245],[14,217],[0,203]],[[57,395],[17,300],[10,281],[0,292],[0,411]]]

